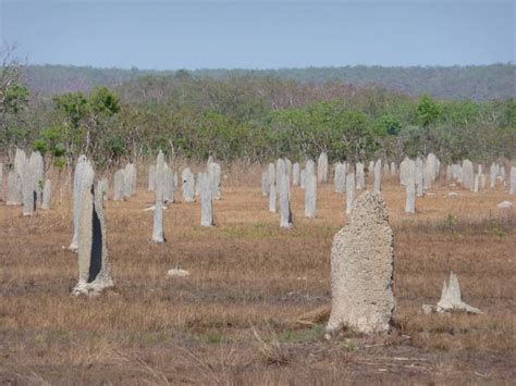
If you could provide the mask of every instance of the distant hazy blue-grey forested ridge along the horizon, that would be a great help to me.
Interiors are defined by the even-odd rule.
[[[29,88],[45,96],[88,91],[96,87],[118,87],[145,76],[175,76],[180,71],[96,69],[71,65],[28,65],[24,77]],[[512,63],[468,66],[342,66],[279,70],[195,70],[196,78],[226,80],[234,76],[274,77],[298,84],[346,83],[357,87],[376,86],[438,99],[505,100],[515,96],[516,66]]]

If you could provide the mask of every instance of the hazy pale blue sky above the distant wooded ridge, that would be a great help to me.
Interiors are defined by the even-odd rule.
[[[139,69],[515,60],[516,0],[0,0],[28,63]]]

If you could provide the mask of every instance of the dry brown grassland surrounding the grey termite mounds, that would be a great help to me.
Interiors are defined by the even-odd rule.
[[[385,178],[395,235],[394,327],[384,336],[298,323],[330,304],[330,248],[346,223],[345,195],[319,188],[318,217],[281,231],[260,194],[260,171],[233,167],[214,202],[165,211],[164,245],[149,242],[152,204],[144,176],[135,197],[107,202],[115,288],[70,296],[76,283],[72,204],[56,188],[51,211],[23,217],[0,203],[0,384],[511,384],[516,379],[516,212],[500,186],[479,194],[444,182],[404,213],[405,192]],[[111,179],[112,182],[112,179]],[[368,187],[371,182],[368,182]],[[447,197],[451,190],[458,197]],[[514,200],[513,200],[514,201]],[[180,264],[188,277],[168,278]],[[458,274],[481,315],[423,315],[444,278]]]

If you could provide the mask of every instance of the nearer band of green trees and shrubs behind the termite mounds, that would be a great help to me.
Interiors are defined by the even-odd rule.
[[[158,150],[248,162],[303,160],[321,151],[331,161],[352,162],[400,162],[429,152],[449,162],[490,162],[516,153],[513,98],[446,100],[342,82],[249,74],[216,79],[180,71],[50,99],[30,92],[17,63],[1,71],[1,151],[37,149],[59,166],[79,153],[110,167]]]

